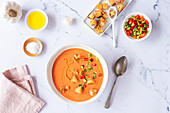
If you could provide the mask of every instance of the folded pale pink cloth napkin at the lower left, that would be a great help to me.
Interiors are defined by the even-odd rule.
[[[38,113],[44,104],[36,97],[26,66],[6,70],[0,76],[0,113]]]

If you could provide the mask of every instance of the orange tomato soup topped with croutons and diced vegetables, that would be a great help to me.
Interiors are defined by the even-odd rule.
[[[103,68],[92,53],[78,48],[62,52],[53,64],[52,77],[65,98],[82,102],[93,98],[103,82]]]

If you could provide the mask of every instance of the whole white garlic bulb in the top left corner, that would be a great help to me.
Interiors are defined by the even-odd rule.
[[[16,2],[6,2],[2,5],[0,15],[9,23],[16,23],[21,19],[22,9]]]

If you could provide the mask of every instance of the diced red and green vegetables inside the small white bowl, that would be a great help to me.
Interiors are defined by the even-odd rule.
[[[145,37],[150,32],[148,28],[149,22],[143,15],[131,16],[124,26],[127,36],[131,36],[133,39]]]

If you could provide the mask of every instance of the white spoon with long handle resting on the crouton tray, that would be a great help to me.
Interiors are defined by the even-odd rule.
[[[118,11],[117,11],[117,8],[116,8],[115,6],[110,7],[108,11],[110,12],[110,11],[112,11],[112,10],[115,11],[115,15],[114,15],[113,17],[110,17],[110,16],[109,16],[109,18],[110,18],[110,20],[112,21],[113,47],[116,48],[115,20],[116,20],[116,18],[117,18],[117,13],[118,13]],[[108,14],[109,14],[109,12],[108,12]]]

